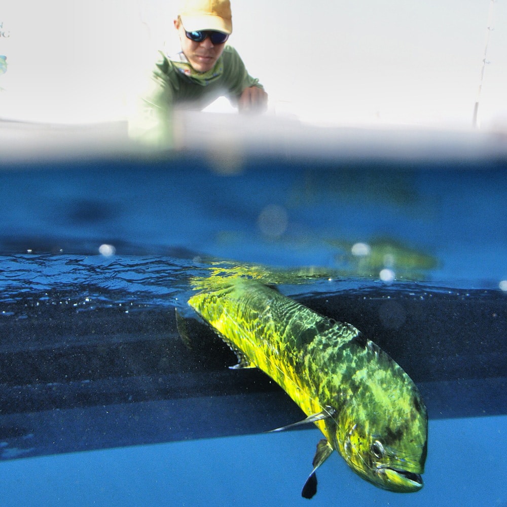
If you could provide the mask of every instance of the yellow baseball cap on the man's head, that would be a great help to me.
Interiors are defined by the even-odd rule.
[[[179,17],[187,31],[217,30],[232,33],[229,0],[185,0]]]

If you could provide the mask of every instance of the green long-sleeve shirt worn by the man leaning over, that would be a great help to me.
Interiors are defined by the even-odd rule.
[[[159,51],[149,85],[129,119],[129,136],[149,146],[169,148],[174,104],[188,103],[190,108],[202,109],[221,95],[236,101],[251,86],[262,88],[231,46],[226,46],[214,67],[202,74],[192,69],[182,53],[173,59]]]

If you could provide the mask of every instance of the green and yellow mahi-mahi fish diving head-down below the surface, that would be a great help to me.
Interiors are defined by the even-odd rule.
[[[233,368],[257,367],[269,375],[308,416],[295,424],[313,422],[325,437],[302,496],[316,493],[315,470],[334,450],[380,488],[421,489],[427,413],[403,369],[351,324],[255,280],[212,278],[189,305],[236,352]]]

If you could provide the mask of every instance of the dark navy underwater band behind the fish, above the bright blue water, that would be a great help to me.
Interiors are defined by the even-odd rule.
[[[185,301],[87,291],[4,301],[0,459],[255,433],[302,418],[262,372],[228,369],[235,355],[198,319],[185,318],[182,340],[174,309]],[[296,299],[386,350],[420,388],[430,418],[507,413],[501,291],[406,282]]]

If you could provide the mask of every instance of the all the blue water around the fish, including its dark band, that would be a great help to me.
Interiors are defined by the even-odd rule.
[[[3,504],[308,502],[320,433],[265,433],[299,409],[229,370],[187,305],[218,271],[352,323],[424,396],[420,492],[381,491],[335,453],[312,504],[507,505],[505,164],[236,162],[0,171]]]

